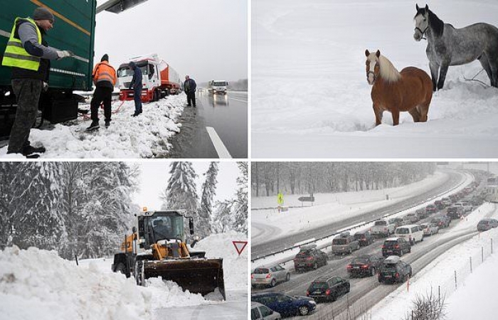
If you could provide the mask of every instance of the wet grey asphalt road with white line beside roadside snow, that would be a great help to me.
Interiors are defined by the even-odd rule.
[[[185,107],[181,132],[171,139],[171,158],[248,157],[248,94],[212,95],[197,92],[197,106]],[[211,127],[213,129],[207,129]],[[211,134],[209,133],[211,132]],[[213,137],[213,132],[215,137]],[[219,137],[221,142],[216,142]],[[223,146],[220,146],[220,143]],[[217,147],[215,147],[215,145]]]

